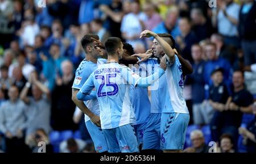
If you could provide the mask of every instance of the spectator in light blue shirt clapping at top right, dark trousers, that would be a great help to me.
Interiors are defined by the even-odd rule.
[[[224,36],[225,44],[240,46],[238,40],[237,24],[240,5],[233,0],[222,1],[217,15],[218,33]]]

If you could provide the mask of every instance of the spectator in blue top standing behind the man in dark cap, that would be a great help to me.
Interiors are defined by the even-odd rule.
[[[230,63],[224,58],[218,57],[216,54],[216,45],[214,43],[207,43],[205,45],[205,55],[208,61],[205,63],[204,79],[206,83],[206,90],[208,92],[209,86],[212,85],[212,79],[210,79],[210,74],[213,70],[221,68],[224,70],[224,82],[229,86],[232,79],[232,67]],[[206,94],[208,99],[208,94]]]

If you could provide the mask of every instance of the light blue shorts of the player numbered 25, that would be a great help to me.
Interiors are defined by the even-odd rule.
[[[102,129],[109,146],[109,153],[136,153],[138,142],[131,124],[113,129]]]

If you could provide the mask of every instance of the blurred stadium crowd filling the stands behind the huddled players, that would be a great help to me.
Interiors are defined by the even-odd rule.
[[[144,30],[170,33],[193,65],[184,152],[256,152],[256,2],[220,0],[0,0],[0,152],[94,152],[72,102],[80,40],[120,37],[135,53]],[[150,110],[150,109],[149,109]]]

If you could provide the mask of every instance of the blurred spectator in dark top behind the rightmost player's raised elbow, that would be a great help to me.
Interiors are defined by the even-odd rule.
[[[191,22],[188,18],[179,19],[180,35],[176,37],[182,56],[193,63],[191,56],[191,46],[197,42],[196,35],[191,31]]]

